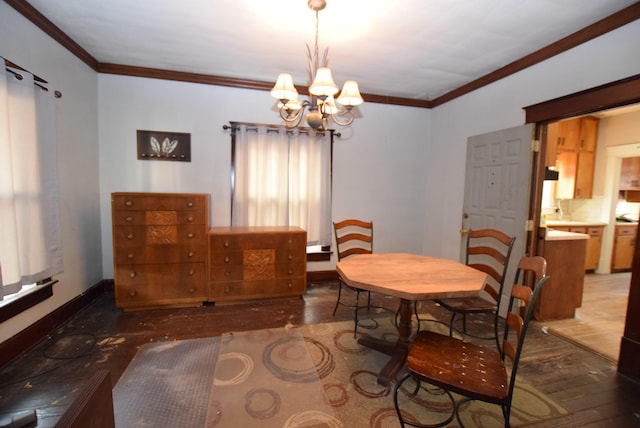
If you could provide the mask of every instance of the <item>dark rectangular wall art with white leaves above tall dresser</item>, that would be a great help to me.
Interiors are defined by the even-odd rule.
[[[191,134],[137,131],[138,159],[191,162]]]

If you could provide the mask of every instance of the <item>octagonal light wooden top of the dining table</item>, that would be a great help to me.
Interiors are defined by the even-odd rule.
[[[356,255],[336,269],[352,287],[406,300],[477,296],[487,278],[454,260],[404,253]]]

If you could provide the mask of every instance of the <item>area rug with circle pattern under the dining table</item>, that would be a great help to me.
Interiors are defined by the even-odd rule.
[[[392,319],[373,327],[358,335],[397,338]],[[114,388],[116,426],[398,427],[393,385],[376,382],[387,358],[357,343],[352,322],[148,344]],[[441,420],[450,411],[438,394],[421,406],[422,420],[425,414]],[[473,402],[462,414],[468,427],[504,426],[495,405]],[[518,379],[512,426],[566,414]]]

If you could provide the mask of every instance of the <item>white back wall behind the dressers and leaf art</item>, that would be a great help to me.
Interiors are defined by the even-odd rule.
[[[114,75],[98,81],[102,260],[113,278],[112,192],[208,193],[211,225],[229,225],[231,139],[222,125],[281,119],[267,91]],[[420,252],[431,112],[365,103],[360,113],[334,143],[333,216],[372,219],[376,251]],[[191,162],[137,160],[138,129],[190,133]]]

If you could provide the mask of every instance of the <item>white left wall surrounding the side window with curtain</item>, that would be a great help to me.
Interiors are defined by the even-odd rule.
[[[97,76],[87,65],[0,2],[0,56],[62,92],[56,100],[64,273],[53,297],[0,325],[0,342],[103,278],[98,186]]]

